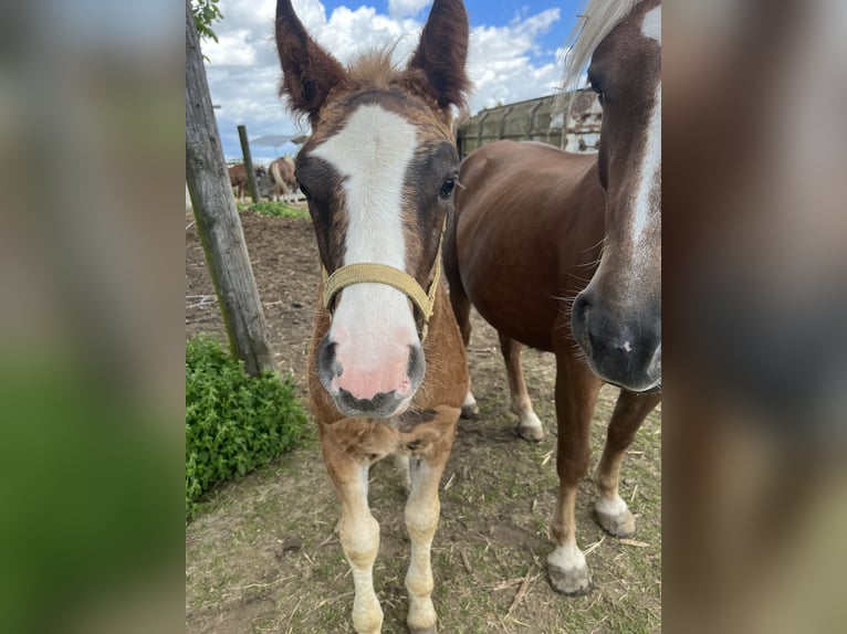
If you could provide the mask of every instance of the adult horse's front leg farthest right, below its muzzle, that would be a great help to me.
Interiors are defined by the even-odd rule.
[[[609,421],[603,457],[594,472],[594,483],[599,493],[594,511],[603,530],[615,537],[629,537],[635,532],[635,518],[629,513],[627,503],[618,495],[624,452],[632,443],[647,414],[660,400],[660,394],[637,394],[629,390],[620,390]]]

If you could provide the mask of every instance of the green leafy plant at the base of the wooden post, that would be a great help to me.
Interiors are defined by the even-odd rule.
[[[224,480],[238,480],[303,438],[306,414],[289,374],[250,377],[218,341],[186,345],[186,521]]]

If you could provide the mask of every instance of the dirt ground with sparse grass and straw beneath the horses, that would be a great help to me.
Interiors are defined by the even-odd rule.
[[[222,337],[192,216],[186,215],[186,332]],[[307,220],[251,212],[242,224],[278,368],[305,399],[306,344],[320,272]],[[190,226],[189,226],[190,225]],[[546,579],[547,525],[555,474],[554,359],[524,350],[530,395],[544,423],[538,444],[517,438],[496,335],[473,315],[469,351],[479,421],[460,421],[442,479],[441,521],[432,549],[439,632],[619,633],[661,630],[660,410],[624,462],[621,496],[638,522],[632,540],[606,536],[592,518],[594,486],[577,503],[578,543],[594,590],[555,593]],[[600,395],[592,430],[599,456],[616,390]],[[406,632],[408,539],[405,494],[390,461],[372,468],[370,504],[381,527],[374,570],[384,632]],[[353,580],[337,535],[337,501],[309,442],[241,483],[221,487],[186,529],[186,631],[216,633],[352,632]]]

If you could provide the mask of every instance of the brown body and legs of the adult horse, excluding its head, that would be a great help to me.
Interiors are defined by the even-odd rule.
[[[554,588],[582,593],[590,588],[590,577],[576,546],[574,504],[588,471],[588,426],[603,382],[573,338],[569,306],[594,273],[605,235],[597,157],[542,144],[498,141],[463,161],[460,181],[445,243],[450,299],[466,346],[471,304],[499,331],[517,408],[524,403],[531,412],[520,346],[556,356],[560,495],[551,524],[556,550],[548,571]],[[624,390],[609,423],[596,474],[597,515],[614,535],[635,529],[617,493],[620,461],[658,401],[657,394]],[[519,432],[529,440],[542,433],[525,425]]]

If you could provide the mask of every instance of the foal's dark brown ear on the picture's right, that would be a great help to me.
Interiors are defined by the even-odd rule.
[[[440,108],[464,108],[470,87],[464,63],[468,60],[468,13],[461,0],[436,0],[429,12],[418,50],[409,70],[420,70],[427,89]]]

